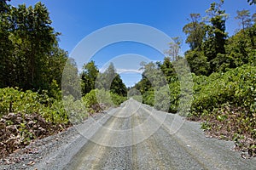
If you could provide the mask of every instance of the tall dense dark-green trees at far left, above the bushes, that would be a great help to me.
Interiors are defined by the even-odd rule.
[[[3,5],[3,2],[2,4]],[[49,12],[42,3],[11,7],[0,15],[0,88],[33,91],[61,85],[67,53],[58,47]]]

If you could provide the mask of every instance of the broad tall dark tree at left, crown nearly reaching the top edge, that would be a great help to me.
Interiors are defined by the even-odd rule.
[[[16,60],[12,71],[16,77],[13,78],[18,78],[16,82],[20,88],[44,88],[44,65],[58,35],[50,26],[47,8],[42,3],[37,3],[34,8],[26,8],[25,4],[13,7],[9,22],[9,39],[14,44],[11,55]]]

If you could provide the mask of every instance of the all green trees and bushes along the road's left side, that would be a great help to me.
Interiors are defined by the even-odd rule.
[[[51,23],[43,3],[0,1],[0,157],[126,99],[113,64],[100,73],[90,61],[79,75]]]

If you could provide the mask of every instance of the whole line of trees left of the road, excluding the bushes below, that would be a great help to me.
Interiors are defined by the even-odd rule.
[[[67,60],[67,52],[58,45],[61,33],[51,26],[48,9],[43,3],[36,3],[34,7],[25,4],[13,7],[3,0],[0,9],[0,88],[48,90],[50,96],[56,97],[53,89],[60,90],[66,62],[73,67],[74,74],[79,72],[74,61]],[[95,84],[98,76],[101,84]],[[115,94],[126,95],[125,84],[113,64],[99,74],[91,61],[84,64],[80,77],[83,96],[94,88],[108,88]],[[108,84],[108,80],[113,82]]]

